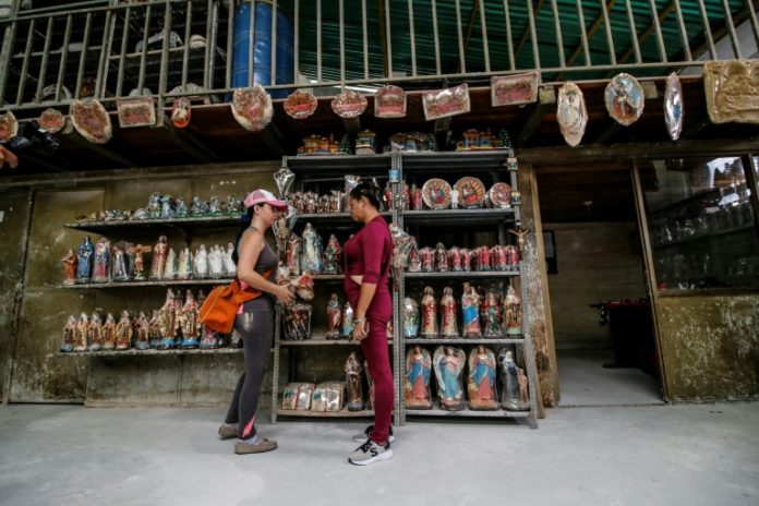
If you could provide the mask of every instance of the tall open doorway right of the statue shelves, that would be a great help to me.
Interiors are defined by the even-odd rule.
[[[663,403],[629,167],[537,167],[535,176],[558,406]]]

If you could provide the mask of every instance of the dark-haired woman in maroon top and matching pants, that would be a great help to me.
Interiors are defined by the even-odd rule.
[[[354,439],[366,439],[348,459],[366,466],[393,457],[390,419],[395,384],[387,347],[387,323],[393,316],[389,289],[393,238],[380,216],[380,189],[364,181],[350,192],[350,214],[363,224],[344,248],[345,289],[353,308],[353,339],[361,341],[369,374],[374,383],[374,425]]]

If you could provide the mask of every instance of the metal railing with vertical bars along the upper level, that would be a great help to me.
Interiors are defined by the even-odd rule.
[[[93,96],[222,100],[257,82],[434,87],[538,70],[543,82],[659,76],[750,58],[754,0],[117,0],[0,19],[0,109]],[[45,4],[46,2],[36,2]],[[0,14],[2,14],[0,3]],[[276,14],[276,15],[275,15]],[[246,33],[255,33],[249,37]],[[279,94],[277,95],[277,92]]]

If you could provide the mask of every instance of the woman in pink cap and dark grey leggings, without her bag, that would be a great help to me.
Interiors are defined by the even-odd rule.
[[[242,304],[234,321],[234,328],[242,336],[245,371],[234,388],[219,435],[222,439],[238,437],[236,454],[260,454],[277,448],[276,441],[261,437],[255,430],[261,384],[274,341],[274,298],[284,304],[291,303],[293,298],[286,286],[268,280],[277,268],[278,258],[264,240],[279,213],[287,210],[287,203],[277,200],[272,192],[256,190],[245,197],[245,207],[248,213],[242,218],[232,258],[242,287],[260,290],[261,297]]]

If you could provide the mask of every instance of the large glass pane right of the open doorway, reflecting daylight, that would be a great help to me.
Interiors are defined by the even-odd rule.
[[[756,178],[744,160],[653,161],[656,184],[644,198],[660,291],[759,288]]]

